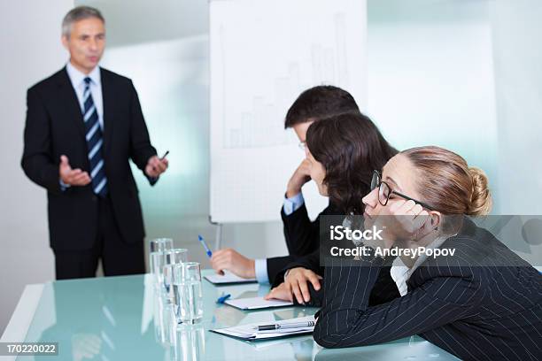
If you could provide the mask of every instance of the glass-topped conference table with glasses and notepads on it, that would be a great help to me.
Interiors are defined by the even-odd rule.
[[[204,270],[203,275],[212,274]],[[214,286],[203,280],[204,317],[177,325],[150,274],[60,280],[27,286],[3,336],[10,342],[58,342],[45,360],[456,360],[421,337],[348,349],[323,349],[310,334],[272,341],[241,341],[209,330],[313,315],[313,307],[240,311],[219,296],[264,296],[257,283]],[[19,336],[18,336],[19,335]],[[14,338],[19,337],[19,340]],[[11,338],[8,340],[8,338]],[[14,359],[15,357],[12,357]]]

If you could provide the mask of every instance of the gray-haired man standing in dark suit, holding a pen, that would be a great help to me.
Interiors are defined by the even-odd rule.
[[[47,189],[50,247],[58,280],[144,273],[143,215],[128,160],[154,185],[157,157],[136,88],[101,68],[105,19],[80,6],[66,14],[65,67],[27,92],[21,165]]]

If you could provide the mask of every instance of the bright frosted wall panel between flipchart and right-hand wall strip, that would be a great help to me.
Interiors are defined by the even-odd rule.
[[[491,34],[488,1],[368,2],[369,115],[398,150],[453,150],[484,169],[494,190]]]

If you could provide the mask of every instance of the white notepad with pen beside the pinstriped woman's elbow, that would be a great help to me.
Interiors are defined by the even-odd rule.
[[[280,325],[292,323],[292,322],[307,322],[314,321],[314,316],[300,317],[297,319],[285,319],[280,322],[275,322]],[[258,331],[258,326],[262,324],[268,324],[267,321],[242,325],[242,326],[233,326],[227,328],[217,328],[211,330],[216,334],[227,334],[228,336],[236,337],[242,340],[255,341],[255,340],[269,340],[278,337],[293,336],[296,334],[311,334],[314,331],[314,326],[307,327],[296,327],[296,328],[283,328],[272,331]]]

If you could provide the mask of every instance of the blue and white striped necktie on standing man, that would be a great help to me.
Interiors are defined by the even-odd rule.
[[[107,195],[107,178],[105,177],[105,164],[102,155],[104,137],[98,121],[97,109],[92,94],[90,94],[90,78],[85,78],[85,90],[83,92],[83,119],[85,121],[85,137],[89,150],[90,178],[92,189],[98,196]]]

